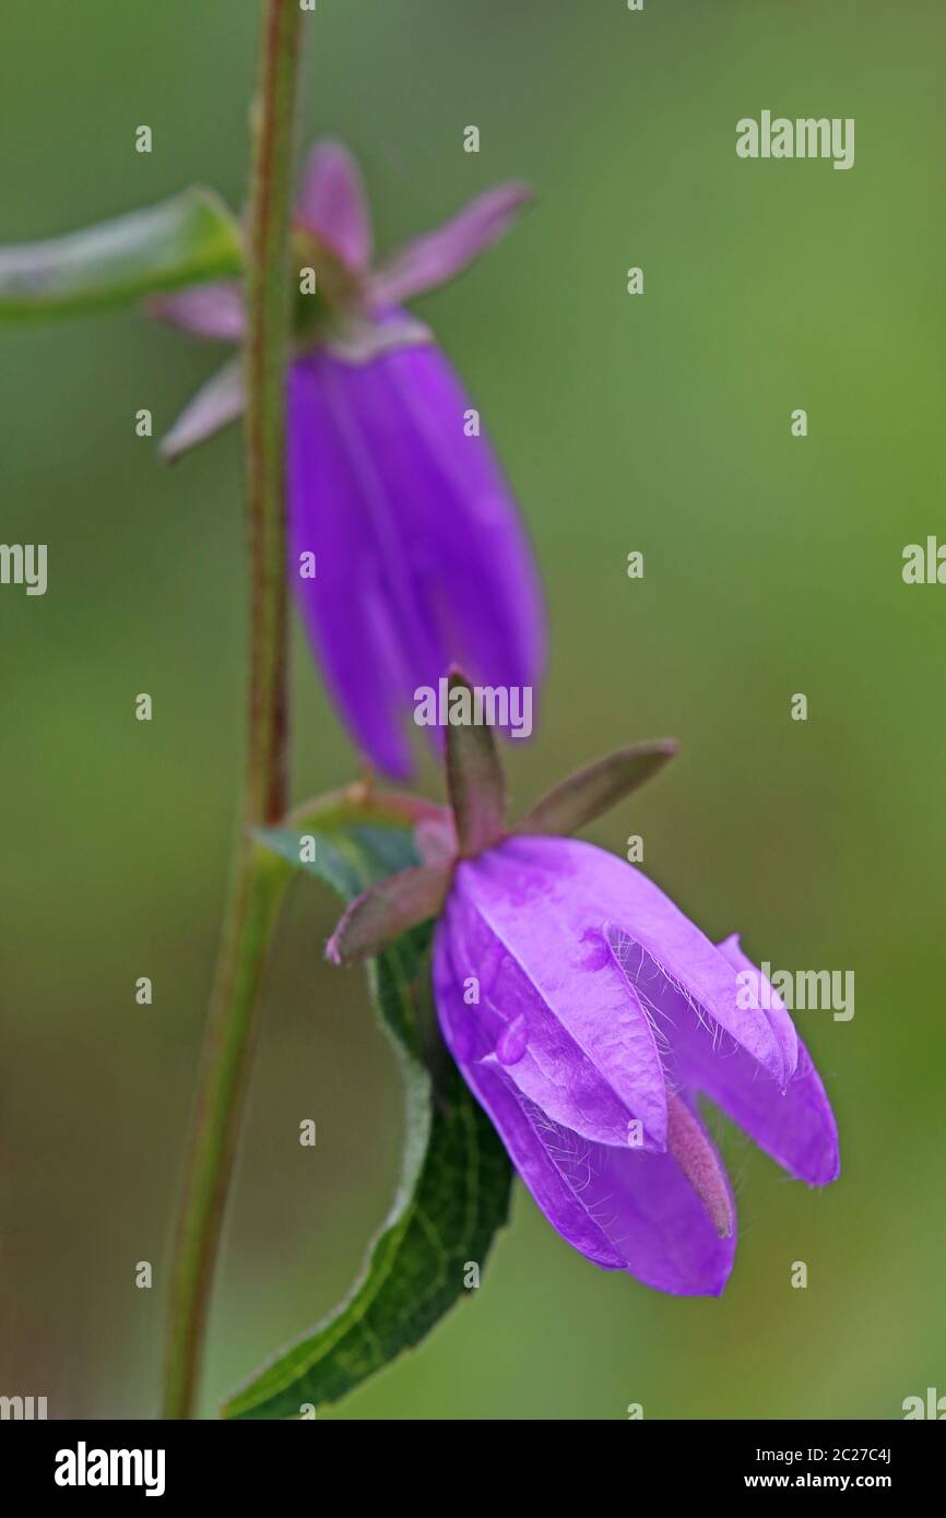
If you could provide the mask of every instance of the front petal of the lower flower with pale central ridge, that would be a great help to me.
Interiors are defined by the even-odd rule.
[[[639,1119],[664,1148],[664,1067],[638,997],[601,935],[574,932],[551,891],[528,911],[504,911],[503,876],[487,861],[507,847],[457,865],[437,926],[437,1006],[454,1057],[486,1058],[506,1023],[524,1017],[527,1052],[510,1076],[525,1096],[585,1138],[626,1146]],[[460,996],[469,976],[480,1005]]]

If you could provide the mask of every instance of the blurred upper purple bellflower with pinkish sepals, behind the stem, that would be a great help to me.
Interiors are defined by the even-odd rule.
[[[430,329],[402,310],[484,252],[527,200],[525,187],[500,185],[378,269],[361,178],[340,144],[313,149],[296,203],[293,257],[314,293],[296,299],[289,373],[292,578],[336,704],[395,777],[412,768],[415,691],[451,663],[489,686],[534,688],[542,674],[542,597],[510,489]],[[238,281],[150,310],[200,337],[243,337]],[[164,455],[241,410],[234,360],[194,396]]]

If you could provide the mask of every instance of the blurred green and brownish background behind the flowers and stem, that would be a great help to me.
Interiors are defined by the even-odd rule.
[[[257,14],[8,0],[0,241],[193,181],[238,205]],[[325,1416],[900,1416],[907,1395],[946,1390],[946,589],[900,578],[905,543],[946,539],[946,11],[320,0],[307,27],[304,141],[357,152],[381,247],[500,179],[539,191],[418,305],[548,589],[551,674],[538,739],[509,757],[515,802],[674,733],[679,759],[595,841],[642,833],[661,885],[756,961],[856,975],[852,1022],[799,1016],[841,1181],[809,1192],[715,1126],[741,1216],[721,1301],[597,1271],[518,1187],[474,1301]],[[762,108],[855,117],[853,170],[738,161],[735,123]],[[0,1392],[46,1395],[50,1416],[156,1409],[241,767],[241,469],[234,431],[162,468],[134,413],[162,431],[217,358],[135,314],[2,339],[0,536],[50,559],[44,598],[0,589]],[[352,756],[298,630],[293,686],[302,798]],[[392,1195],[398,1073],[360,975],[322,964],[334,911],[301,882],[279,935],[208,1415],[339,1299]]]

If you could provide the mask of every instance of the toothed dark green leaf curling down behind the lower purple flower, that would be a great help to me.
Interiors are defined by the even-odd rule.
[[[299,862],[299,833],[263,839],[296,868],[351,900],[418,862],[398,826],[308,829],[316,861]],[[381,1025],[404,1070],[407,1138],[401,1183],[360,1280],[322,1324],[276,1354],[223,1406],[225,1418],[298,1418],[304,1403],[345,1397],[416,1345],[462,1298],[468,1261],[483,1269],[509,1211],[510,1164],[492,1123],[443,1053],[424,1058],[430,926],[416,927],[369,964]],[[340,972],[342,973],[342,972]],[[439,1047],[439,1046],[437,1046]],[[439,1064],[436,1093],[428,1063]]]

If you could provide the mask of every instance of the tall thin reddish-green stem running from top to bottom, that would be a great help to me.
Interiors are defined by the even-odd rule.
[[[207,1312],[248,1084],[255,1011],[285,887],[255,829],[285,812],[287,548],[285,366],[290,197],[299,0],[266,0],[246,272],[246,504],[251,641],[249,732],[240,839],[214,979],[194,1126],[178,1217],[164,1416],[193,1416]]]

